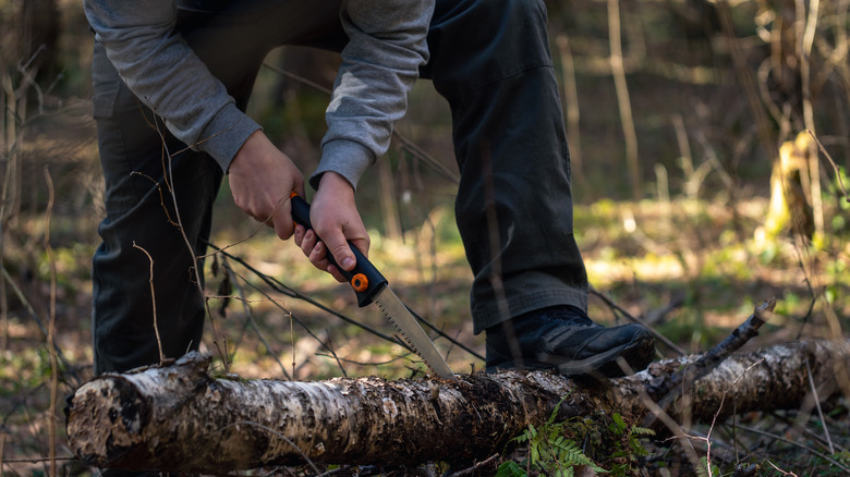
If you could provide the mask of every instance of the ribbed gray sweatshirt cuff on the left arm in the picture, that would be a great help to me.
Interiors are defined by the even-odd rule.
[[[242,112],[236,105],[229,102],[212,118],[204,129],[197,148],[209,154],[224,173],[239,149],[260,125]]]

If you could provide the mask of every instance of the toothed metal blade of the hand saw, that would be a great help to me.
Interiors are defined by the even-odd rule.
[[[451,368],[434,346],[425,330],[389,286],[384,286],[384,290],[375,297],[375,303],[384,316],[399,330],[411,350],[425,362],[435,375],[442,379],[457,381]]]

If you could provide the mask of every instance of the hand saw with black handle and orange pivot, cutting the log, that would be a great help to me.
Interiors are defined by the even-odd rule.
[[[292,219],[295,223],[312,230],[313,224],[309,221],[309,204],[294,192],[290,194],[290,198],[292,199]],[[319,240],[321,240],[321,237],[319,237]],[[364,307],[372,303],[377,304],[384,316],[386,316],[401,332],[401,335],[404,338],[404,341],[408,342],[411,350],[425,362],[435,375],[442,379],[457,380],[454,374],[451,372],[449,365],[439,354],[437,348],[434,347],[434,343],[420,323],[413,315],[411,315],[404,304],[401,303],[401,299],[392,293],[387,279],[380,274],[378,269],[375,268],[375,266],[373,266],[356,247],[351,245],[351,243],[349,243],[349,246],[357,260],[356,266],[351,271],[343,270],[342,267],[337,265],[330,253],[328,253],[327,256],[328,260],[337,267],[354,290],[354,293],[357,295],[357,305]]]

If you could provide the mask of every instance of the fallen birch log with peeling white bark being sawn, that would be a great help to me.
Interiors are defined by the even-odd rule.
[[[691,416],[797,408],[811,393],[809,360],[822,400],[848,389],[850,341],[779,345],[733,355],[690,392]],[[190,354],[169,367],[105,375],[69,399],[75,455],[99,467],[216,472],[312,462],[469,463],[502,450],[529,424],[593,412],[647,414],[646,397],[693,358],[656,363],[608,383],[547,372],[508,371],[435,379],[317,382],[214,379],[210,358]],[[645,391],[645,392],[643,392]],[[648,394],[647,394],[648,393]],[[720,408],[720,402],[725,405]],[[669,413],[678,417],[677,406]]]

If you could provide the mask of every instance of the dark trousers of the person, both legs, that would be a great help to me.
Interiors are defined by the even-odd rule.
[[[311,2],[307,13],[303,4],[184,1],[178,28],[244,109],[272,48],[340,50],[344,45],[338,1]],[[422,76],[433,80],[451,107],[461,171],[456,212],[474,274],[475,331],[547,306],[586,307],[543,1],[439,0],[428,46],[430,61]],[[93,260],[94,339],[96,371],[104,372],[158,360],[150,264],[136,247],[155,262],[156,317],[166,355],[198,346],[203,297],[182,233],[195,254],[204,252],[222,171],[204,154],[177,155],[168,182],[178,204],[175,209],[166,196],[166,211],[160,134],[170,152],[185,146],[141,106],[102,46],[95,45],[94,54],[94,113],[107,208]],[[182,232],[173,224],[178,213]],[[304,266],[309,266],[306,260]]]

